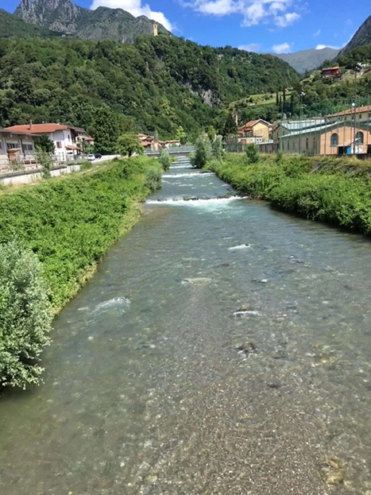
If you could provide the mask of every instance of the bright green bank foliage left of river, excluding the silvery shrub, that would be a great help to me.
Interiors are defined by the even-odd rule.
[[[139,218],[135,201],[161,187],[157,160],[140,156],[104,170],[51,179],[0,196],[0,243],[16,237],[42,262],[60,309],[106,250]]]

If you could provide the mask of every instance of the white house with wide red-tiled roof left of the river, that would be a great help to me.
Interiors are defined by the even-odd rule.
[[[73,160],[81,154],[79,139],[86,136],[82,127],[63,124],[33,124],[32,121],[24,125],[6,127],[6,131],[23,132],[33,136],[47,136],[55,147],[54,156],[58,162]],[[79,138],[79,139],[78,139]]]

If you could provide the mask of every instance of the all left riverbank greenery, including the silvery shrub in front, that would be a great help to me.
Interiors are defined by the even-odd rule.
[[[138,221],[161,173],[136,156],[0,196],[0,386],[40,383],[52,314]]]

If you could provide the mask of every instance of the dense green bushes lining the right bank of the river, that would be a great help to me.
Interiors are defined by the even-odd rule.
[[[209,167],[239,193],[266,199],[282,211],[371,234],[371,165],[304,156],[228,154]]]

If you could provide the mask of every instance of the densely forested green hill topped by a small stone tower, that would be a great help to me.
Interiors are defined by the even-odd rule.
[[[292,86],[298,74],[272,55],[212,49],[168,35],[134,45],[62,39],[0,40],[0,125],[63,122],[89,128],[94,109],[135,118],[137,129],[174,136],[225,120],[248,94]]]

